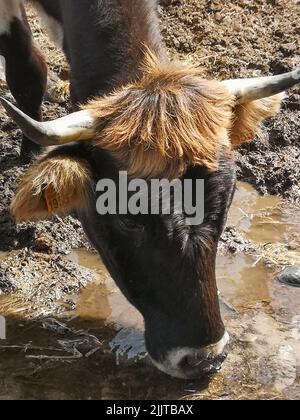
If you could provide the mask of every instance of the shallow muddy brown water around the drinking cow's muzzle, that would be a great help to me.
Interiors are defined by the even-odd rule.
[[[300,214],[241,183],[228,224],[257,243],[288,244],[299,233]],[[274,280],[278,268],[256,255],[219,256],[231,353],[211,380],[184,382],[151,366],[143,320],[99,257],[80,250],[68,258],[91,269],[94,281],[75,296],[74,312],[59,320],[8,320],[7,340],[0,341],[0,399],[299,398],[300,291]]]

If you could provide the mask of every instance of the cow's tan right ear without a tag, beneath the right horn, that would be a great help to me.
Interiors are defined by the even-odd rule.
[[[237,105],[234,109],[233,125],[230,134],[233,146],[239,146],[246,141],[254,140],[261,123],[267,118],[278,114],[284,97],[285,94],[279,94]]]

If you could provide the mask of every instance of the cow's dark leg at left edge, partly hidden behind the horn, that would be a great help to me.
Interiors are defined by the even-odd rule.
[[[21,0],[0,0],[0,54],[6,61],[6,80],[18,106],[41,120],[47,66],[35,47]],[[28,163],[40,146],[23,137],[21,158]]]

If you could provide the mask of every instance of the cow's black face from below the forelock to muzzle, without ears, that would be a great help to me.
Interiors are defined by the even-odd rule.
[[[96,182],[118,182],[106,154],[95,149],[83,153],[88,146],[82,144],[78,148],[81,158],[89,156]],[[223,157],[218,172],[194,168],[185,177],[205,180],[200,226],[188,226],[178,215],[100,216],[96,199],[79,217],[114,280],[143,315],[154,364],[172,376],[194,378],[218,370],[226,358],[228,335],[220,315],[215,262],[235,170]]]

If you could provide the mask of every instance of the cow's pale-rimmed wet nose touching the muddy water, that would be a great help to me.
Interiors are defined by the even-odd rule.
[[[178,348],[168,353],[163,363],[154,364],[163,372],[180,379],[198,379],[218,372],[228,355],[229,335],[217,344],[194,348]]]

